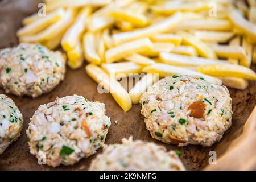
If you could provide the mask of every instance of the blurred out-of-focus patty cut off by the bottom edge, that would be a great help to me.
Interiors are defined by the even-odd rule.
[[[90,164],[95,171],[141,171],[141,170],[185,170],[174,151],[166,152],[164,146],[143,142],[130,137],[122,139],[122,144],[112,144],[104,148]]]

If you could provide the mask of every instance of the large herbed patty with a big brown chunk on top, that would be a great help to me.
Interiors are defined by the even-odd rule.
[[[211,146],[231,126],[228,89],[202,77],[163,78],[142,94],[140,103],[147,129],[164,143]]]

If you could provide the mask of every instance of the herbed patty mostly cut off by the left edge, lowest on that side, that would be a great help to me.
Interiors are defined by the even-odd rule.
[[[22,125],[18,107],[11,98],[0,94],[0,154],[19,137]]]

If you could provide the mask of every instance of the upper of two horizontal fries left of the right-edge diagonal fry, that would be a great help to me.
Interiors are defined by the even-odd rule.
[[[230,31],[232,30],[232,23],[229,20],[217,18],[192,19],[182,22],[177,30]]]

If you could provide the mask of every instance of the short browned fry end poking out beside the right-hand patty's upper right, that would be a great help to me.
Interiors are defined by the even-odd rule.
[[[228,86],[229,88],[245,90],[248,87],[248,81],[243,78],[234,77],[218,77],[222,80],[222,84]]]

